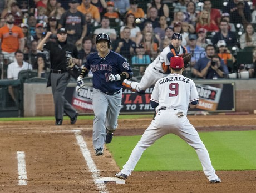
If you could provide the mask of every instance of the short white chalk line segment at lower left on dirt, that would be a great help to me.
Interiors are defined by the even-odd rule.
[[[27,170],[24,151],[17,151],[19,186],[27,185]]]

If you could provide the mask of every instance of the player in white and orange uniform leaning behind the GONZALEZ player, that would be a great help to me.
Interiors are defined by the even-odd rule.
[[[191,59],[191,54],[187,53],[186,48],[181,45],[181,42],[182,35],[180,33],[174,33],[171,37],[171,44],[168,47],[165,47],[156,59],[149,64],[140,82],[126,79],[123,83],[124,87],[140,94],[144,94],[147,88],[151,87],[157,80],[166,77],[166,75],[170,73],[170,58],[175,55],[184,57],[186,67]]]

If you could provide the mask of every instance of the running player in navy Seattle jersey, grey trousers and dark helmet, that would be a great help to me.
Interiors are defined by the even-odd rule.
[[[109,35],[100,33],[96,36],[98,52],[88,55],[87,62],[77,78],[77,92],[84,87],[83,77],[91,70],[93,77],[94,111],[93,146],[96,156],[103,155],[104,143],[112,141],[117,128],[117,117],[121,109],[122,81],[132,77],[129,63],[121,55],[112,52]]]

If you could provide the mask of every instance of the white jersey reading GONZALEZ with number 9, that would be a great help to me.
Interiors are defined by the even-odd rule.
[[[157,109],[173,108],[186,115],[189,103],[199,97],[193,80],[174,73],[156,82],[150,100],[159,103]]]

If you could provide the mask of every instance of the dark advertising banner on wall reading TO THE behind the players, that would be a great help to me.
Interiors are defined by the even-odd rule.
[[[196,83],[199,95],[199,106],[193,111],[235,111],[234,83]],[[122,90],[122,107],[120,113],[154,113],[150,106],[150,96],[154,87],[146,90],[145,94]],[[77,93],[75,87],[68,87],[65,97],[78,110],[85,114],[93,114],[92,87],[81,88]]]

